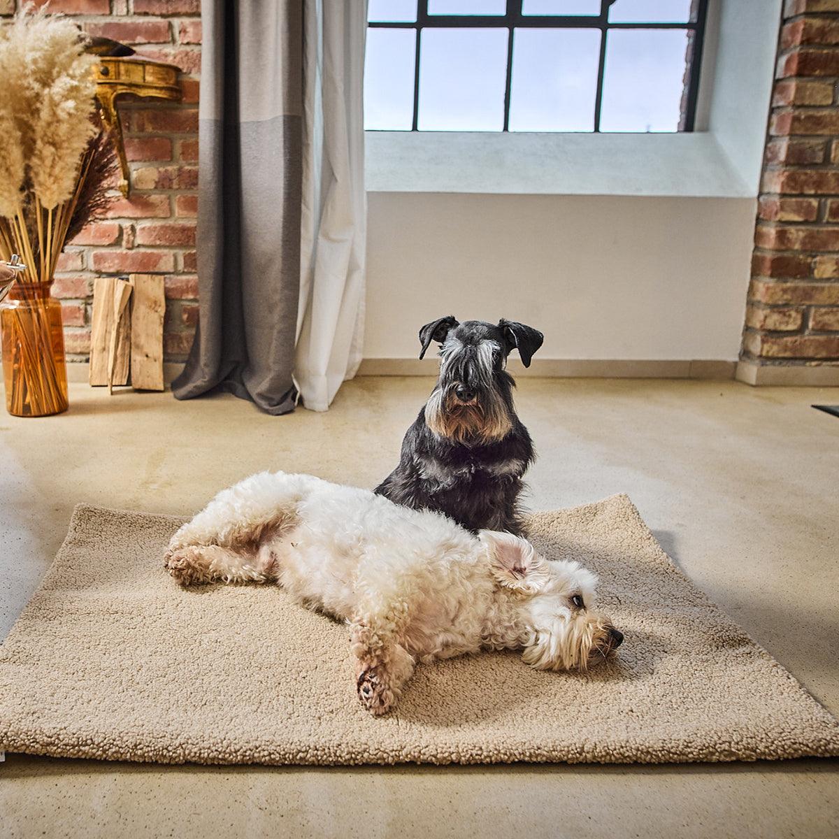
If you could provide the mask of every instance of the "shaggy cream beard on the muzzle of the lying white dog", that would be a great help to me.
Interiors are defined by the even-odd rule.
[[[602,615],[558,620],[534,632],[522,658],[536,670],[588,670],[614,652],[610,623]]]

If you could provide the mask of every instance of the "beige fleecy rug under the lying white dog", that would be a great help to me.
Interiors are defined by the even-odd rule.
[[[626,634],[589,675],[516,654],[421,664],[396,712],[355,696],[347,631],[268,586],[184,591],[179,519],[76,508],[0,647],[0,748],[161,763],[663,763],[839,754],[839,722],[677,571],[626,496],[532,519]]]

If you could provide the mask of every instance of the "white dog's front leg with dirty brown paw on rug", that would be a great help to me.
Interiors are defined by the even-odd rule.
[[[414,672],[414,657],[391,631],[366,622],[352,625],[352,655],[362,705],[376,717],[387,713]]]

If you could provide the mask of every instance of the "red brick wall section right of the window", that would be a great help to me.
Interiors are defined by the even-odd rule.
[[[786,0],[745,360],[839,362],[839,0]]]

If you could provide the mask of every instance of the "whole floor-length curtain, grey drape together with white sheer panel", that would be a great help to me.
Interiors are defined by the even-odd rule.
[[[366,3],[203,0],[199,327],[177,399],[325,410],[361,352]]]

